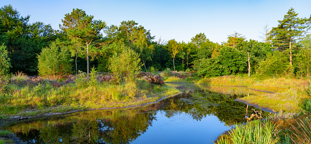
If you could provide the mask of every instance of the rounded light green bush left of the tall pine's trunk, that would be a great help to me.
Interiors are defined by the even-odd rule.
[[[52,42],[44,48],[38,57],[38,71],[40,76],[69,75],[72,70],[72,59],[63,46]]]

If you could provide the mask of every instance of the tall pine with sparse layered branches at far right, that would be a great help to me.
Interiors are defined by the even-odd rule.
[[[299,18],[298,13],[293,8],[289,9],[283,20],[278,20],[277,27],[272,28],[270,31],[270,37],[272,38],[273,46],[277,47],[277,50],[288,50],[290,54],[290,66],[292,67],[292,43],[299,37],[303,36],[307,27],[307,21],[310,18]]]

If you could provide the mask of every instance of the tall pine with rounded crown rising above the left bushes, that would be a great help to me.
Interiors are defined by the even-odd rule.
[[[98,54],[98,49],[102,47],[101,31],[106,27],[105,21],[94,20],[94,16],[87,15],[81,9],[73,9],[69,14],[65,14],[63,25],[60,29],[67,32],[69,39],[73,43],[71,53],[78,55],[79,50],[87,59],[87,74],[90,73],[89,56]]]

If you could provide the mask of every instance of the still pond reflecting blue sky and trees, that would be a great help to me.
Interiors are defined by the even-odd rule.
[[[235,101],[257,93],[245,87],[169,84],[185,93],[141,107],[26,119],[2,129],[28,143],[213,143],[235,123],[246,123],[246,107],[247,115],[260,110]]]

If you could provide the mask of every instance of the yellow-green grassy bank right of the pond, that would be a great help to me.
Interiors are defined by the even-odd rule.
[[[249,97],[241,98],[250,104],[270,108],[274,111],[298,112],[302,105],[306,109],[311,109],[311,103],[307,99],[311,98],[311,86],[309,79],[295,78],[263,78],[246,76],[223,76],[213,78],[198,78],[197,76],[186,79],[167,77],[165,82],[193,82],[209,85],[225,86],[246,86],[250,89],[264,90],[267,92],[255,92]],[[309,110],[310,111],[310,110]]]

